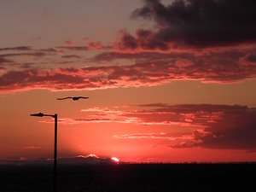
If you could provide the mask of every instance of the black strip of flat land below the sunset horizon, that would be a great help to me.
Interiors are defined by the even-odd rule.
[[[256,191],[256,164],[58,166],[58,192]],[[0,166],[1,192],[51,192],[51,165]]]

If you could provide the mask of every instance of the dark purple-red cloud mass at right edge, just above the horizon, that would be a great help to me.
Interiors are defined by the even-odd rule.
[[[231,109],[203,131],[194,131],[190,143],[180,143],[172,148],[230,148],[254,150],[256,148],[256,108]]]

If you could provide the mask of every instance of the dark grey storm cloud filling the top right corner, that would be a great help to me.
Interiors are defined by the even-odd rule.
[[[145,0],[132,17],[154,20],[156,29],[124,32],[121,49],[175,49],[230,46],[256,41],[256,2],[253,0]]]

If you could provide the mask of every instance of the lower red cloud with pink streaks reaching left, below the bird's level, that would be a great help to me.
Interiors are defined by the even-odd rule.
[[[130,123],[141,125],[179,125],[172,133],[133,133],[115,135],[119,139],[165,139],[172,148],[256,149],[256,108],[240,105],[155,103],[131,108],[88,108],[87,119],[60,119],[63,124]],[[134,106],[132,107],[134,108]],[[130,110],[129,110],[130,109]],[[53,122],[53,121],[52,121]]]

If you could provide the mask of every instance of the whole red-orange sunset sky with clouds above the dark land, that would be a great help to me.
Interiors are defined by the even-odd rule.
[[[1,0],[0,161],[256,160],[256,1]],[[87,100],[56,100],[89,96]]]

